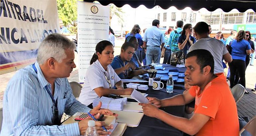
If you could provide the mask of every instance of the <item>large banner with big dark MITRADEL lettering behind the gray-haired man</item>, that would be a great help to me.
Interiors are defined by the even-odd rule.
[[[34,63],[42,40],[60,33],[60,27],[56,1],[0,2],[0,74],[4,74]]]

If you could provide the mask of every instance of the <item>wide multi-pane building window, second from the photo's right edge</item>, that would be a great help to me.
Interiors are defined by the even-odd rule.
[[[225,14],[223,24],[242,24],[244,13]]]

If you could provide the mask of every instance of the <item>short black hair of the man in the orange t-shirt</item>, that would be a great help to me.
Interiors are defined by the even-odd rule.
[[[210,66],[210,73],[214,73],[214,59],[211,53],[205,49],[196,49],[189,52],[186,59],[196,56],[196,63],[200,66],[200,71],[203,72],[205,66]]]

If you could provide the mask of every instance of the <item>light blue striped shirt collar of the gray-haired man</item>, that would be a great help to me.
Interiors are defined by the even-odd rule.
[[[44,88],[45,86],[50,85],[50,83],[45,79],[45,76],[37,61],[35,62],[35,67],[37,68],[37,77],[40,87]],[[60,86],[63,84],[60,78],[56,78],[54,82]]]

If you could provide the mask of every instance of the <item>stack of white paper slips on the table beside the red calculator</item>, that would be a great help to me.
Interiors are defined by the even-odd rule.
[[[123,110],[124,105],[127,104],[127,98],[112,99],[107,97],[96,98],[92,102],[92,106],[96,107],[99,102],[102,103],[101,108],[111,110]]]

